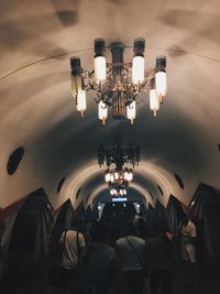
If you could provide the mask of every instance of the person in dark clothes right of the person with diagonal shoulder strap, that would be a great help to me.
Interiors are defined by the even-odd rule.
[[[151,294],[172,294],[174,258],[172,233],[163,230],[157,237],[150,238],[146,241],[145,255],[150,269]]]

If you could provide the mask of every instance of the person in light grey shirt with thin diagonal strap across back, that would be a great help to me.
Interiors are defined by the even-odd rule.
[[[121,238],[116,242],[116,249],[122,263],[122,272],[128,292],[143,293],[144,287],[144,246],[145,241],[138,236],[133,224],[129,224]]]

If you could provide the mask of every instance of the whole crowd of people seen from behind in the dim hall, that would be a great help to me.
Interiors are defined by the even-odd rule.
[[[57,279],[69,294],[175,294],[174,283],[183,282],[176,276],[177,257],[195,268],[198,282],[196,237],[188,218],[182,222],[179,236],[162,224],[153,231],[139,216],[118,226],[103,219],[85,226],[74,219],[72,229],[58,238],[63,273]]]

